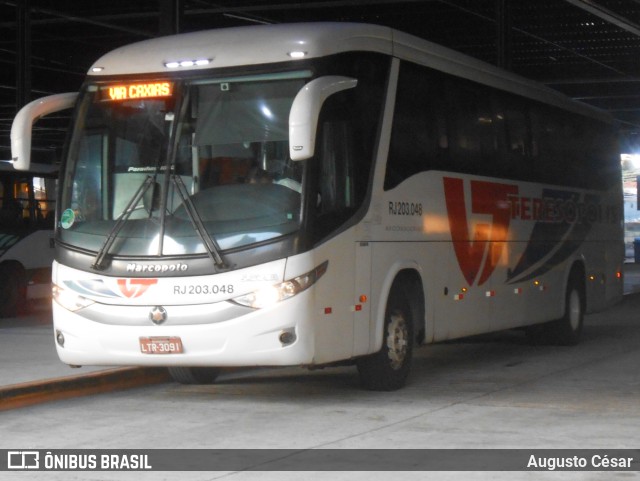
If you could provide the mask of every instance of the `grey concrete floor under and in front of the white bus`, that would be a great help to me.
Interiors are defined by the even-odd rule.
[[[640,269],[627,269],[635,284]],[[630,295],[587,316],[575,347],[532,346],[520,332],[501,332],[420,348],[407,387],[392,393],[360,390],[355,368],[292,368],[0,412],[0,449],[638,449],[639,312],[640,295]],[[26,323],[0,327],[3,381],[69,373],[50,358],[48,322],[35,315]],[[26,479],[400,478],[627,480],[640,472],[37,472]]]

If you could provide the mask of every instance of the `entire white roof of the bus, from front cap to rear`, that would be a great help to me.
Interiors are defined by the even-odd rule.
[[[318,22],[232,27],[159,37],[113,50],[89,75],[175,73],[292,61],[292,52],[317,58],[370,51],[413,61],[458,77],[612,122],[604,111],[573,101],[529,79],[455,50],[380,25]],[[200,65],[196,64],[201,61]],[[180,62],[184,66],[175,67]],[[172,66],[174,65],[174,66]]]

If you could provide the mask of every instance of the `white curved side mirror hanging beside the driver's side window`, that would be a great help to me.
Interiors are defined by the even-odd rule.
[[[306,84],[293,99],[289,112],[289,155],[291,160],[306,160],[315,153],[318,117],[324,101],[331,95],[354,88],[358,80],[330,75]]]

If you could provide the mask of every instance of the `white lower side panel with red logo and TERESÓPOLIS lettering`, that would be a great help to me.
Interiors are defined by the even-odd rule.
[[[586,266],[593,307],[619,298],[622,251],[609,212],[616,201],[607,193],[430,171],[385,192],[380,203],[373,278],[393,274],[395,262],[419,266],[429,286],[427,317],[433,309],[427,340],[561,317],[576,261]],[[379,302],[383,291],[374,288]]]

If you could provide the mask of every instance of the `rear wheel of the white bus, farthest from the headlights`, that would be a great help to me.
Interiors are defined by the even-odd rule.
[[[564,315],[555,321],[531,326],[527,333],[534,344],[575,346],[580,341],[585,311],[584,281],[578,271],[571,273],[564,299]]]

